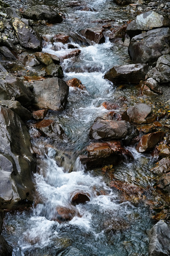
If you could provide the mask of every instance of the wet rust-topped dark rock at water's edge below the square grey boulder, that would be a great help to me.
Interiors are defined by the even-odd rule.
[[[57,136],[63,138],[65,132],[62,127],[54,120],[45,119],[36,123],[36,128],[41,131],[42,134],[50,138],[56,138]]]

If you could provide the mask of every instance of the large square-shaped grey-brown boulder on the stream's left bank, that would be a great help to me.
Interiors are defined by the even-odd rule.
[[[53,77],[33,82],[34,105],[39,109],[63,110],[69,94],[65,81]]]

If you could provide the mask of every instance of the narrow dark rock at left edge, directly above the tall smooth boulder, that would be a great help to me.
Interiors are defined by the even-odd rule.
[[[31,113],[28,109],[25,109],[18,101],[0,101],[1,106],[5,106],[8,109],[11,109],[16,114],[19,115],[19,117],[22,119],[22,121],[26,121],[32,118]]]

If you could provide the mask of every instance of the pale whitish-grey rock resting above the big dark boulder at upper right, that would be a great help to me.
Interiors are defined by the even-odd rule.
[[[133,38],[133,36],[141,34],[142,31],[169,26],[170,21],[168,15],[165,15],[164,13],[156,13],[156,11],[151,10],[137,15],[135,20],[128,24],[126,32],[130,38]]]

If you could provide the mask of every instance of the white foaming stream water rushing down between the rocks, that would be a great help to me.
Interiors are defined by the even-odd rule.
[[[46,1],[37,1],[46,3]],[[118,8],[113,1],[86,1],[96,11],[80,11],[76,7],[68,7],[74,1],[47,1],[55,4],[66,19],[62,24],[40,32],[51,37],[59,32],[76,32],[88,26],[96,26],[92,21],[111,19],[112,24],[128,20],[131,12],[129,7]],[[100,24],[101,26],[101,24]],[[67,44],[46,44],[44,52],[56,54],[58,57],[71,51]],[[103,79],[104,72],[115,64],[128,61],[127,48],[109,42],[106,34],[104,44],[89,46],[71,42],[81,50],[80,56],[62,62],[64,79],[76,77],[86,86],[86,90],[70,88],[68,104],[62,113],[49,112],[48,117],[60,123],[66,133],[61,151],[66,151],[70,158],[67,165],[59,167],[56,163],[55,147],[44,147],[50,139],[33,139],[33,146],[39,148],[39,172],[35,177],[36,195],[32,209],[22,213],[7,213],[3,236],[14,247],[13,255],[146,255],[148,253],[148,230],[152,226],[150,212],[141,204],[132,204],[122,200],[118,192],[109,186],[108,177],[98,169],[84,170],[79,163],[78,155],[90,143],[88,132],[94,119],[107,114],[101,104],[104,101],[118,102],[122,90]],[[135,86],[126,89],[126,97],[131,102],[140,98]],[[134,97],[131,97],[134,95]],[[135,96],[136,95],[136,96]],[[120,105],[119,111],[123,109]],[[31,135],[35,130],[30,130]],[[60,143],[61,144],[61,143]],[[143,188],[151,187],[150,156],[142,156],[133,147],[128,148],[135,161],[115,167],[113,179],[128,181]],[[60,157],[60,156],[59,156]],[[67,167],[66,167],[67,166]],[[72,166],[72,172],[69,167]],[[88,195],[90,201],[84,204],[71,204],[75,192]],[[67,208],[75,214],[70,221],[57,222],[58,208]]]

